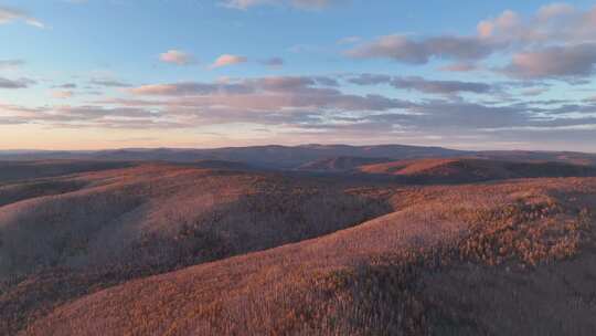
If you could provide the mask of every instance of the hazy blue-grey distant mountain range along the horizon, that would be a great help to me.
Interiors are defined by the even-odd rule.
[[[215,149],[127,148],[95,151],[0,150],[0,160],[84,159],[105,161],[172,161],[224,160],[258,168],[300,170],[345,170],[363,164],[419,158],[486,158],[499,160],[560,161],[596,165],[596,154],[573,151],[497,150],[471,151],[443,147],[405,145],[301,145],[252,146]]]

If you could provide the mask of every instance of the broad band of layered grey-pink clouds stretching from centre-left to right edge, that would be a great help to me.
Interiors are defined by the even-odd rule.
[[[342,92],[334,77],[276,76],[228,80],[214,83],[156,84],[131,88],[135,95],[159,99],[111,99],[103,104],[155,107],[185,123],[251,123],[317,132],[407,129],[416,132],[482,132],[482,129],[532,126],[550,127],[568,115],[594,114],[589,104],[534,105],[534,103],[481,104],[464,99],[408,102],[383,95]],[[453,95],[490,93],[502,85],[476,82],[433,81],[422,77],[362,74],[347,77],[356,85],[385,84],[424,93]],[[541,102],[538,102],[540,104]],[[584,125],[586,118],[567,120]]]

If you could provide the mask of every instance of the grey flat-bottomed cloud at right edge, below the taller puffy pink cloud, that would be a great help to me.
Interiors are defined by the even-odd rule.
[[[519,78],[573,78],[594,73],[596,43],[550,46],[513,55],[503,73]]]

